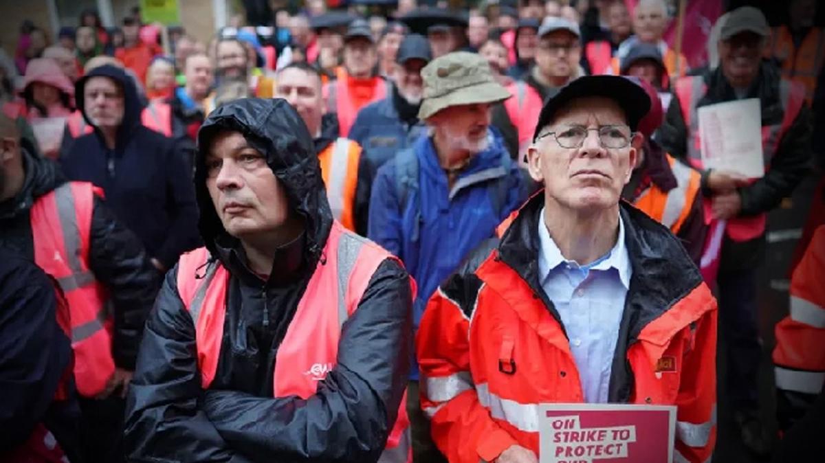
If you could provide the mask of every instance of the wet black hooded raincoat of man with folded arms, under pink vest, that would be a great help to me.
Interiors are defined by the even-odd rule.
[[[248,269],[206,187],[203,147],[243,133],[285,187],[304,233],[283,246],[266,281]],[[243,99],[214,110],[198,134],[200,233],[229,271],[214,379],[201,386],[196,329],[167,274],[146,325],[130,386],[125,440],[133,461],[377,461],[406,385],[411,284],[394,259],[379,264],[343,325],[337,362],[315,395],[273,397],[276,355],[309,279],[326,264],[332,212],[306,126],[283,100]],[[334,302],[330,302],[333,304]]]

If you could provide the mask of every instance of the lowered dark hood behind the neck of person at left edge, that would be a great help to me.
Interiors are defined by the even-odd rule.
[[[21,156],[26,180],[23,180],[23,187],[13,199],[0,202],[0,218],[10,218],[28,211],[35,199],[66,183],[66,177],[51,159],[36,157],[25,148],[21,148]]]

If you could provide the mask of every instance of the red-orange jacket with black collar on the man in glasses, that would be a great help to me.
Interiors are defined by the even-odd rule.
[[[528,243],[543,203],[530,199],[479,268],[454,274],[427,305],[417,334],[422,409],[450,462],[495,461],[514,444],[538,454],[540,404],[584,400],[563,325],[534,281],[537,245]],[[674,461],[708,461],[716,436],[714,298],[669,232],[631,208],[623,206],[622,217],[640,267],[626,302],[638,319],[625,313],[610,401],[676,405]],[[672,268],[653,269],[646,253]],[[661,290],[662,278],[678,288]]]

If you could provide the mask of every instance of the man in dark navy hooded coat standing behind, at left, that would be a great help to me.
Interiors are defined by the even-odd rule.
[[[63,153],[63,171],[69,180],[101,187],[116,217],[165,272],[198,244],[191,154],[141,124],[143,104],[122,69],[95,68],[75,85],[75,95],[83,118],[95,130]]]

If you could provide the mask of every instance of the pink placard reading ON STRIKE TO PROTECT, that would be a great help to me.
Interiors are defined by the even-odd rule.
[[[676,407],[547,404],[540,463],[672,463]]]

